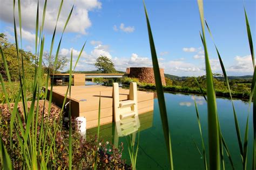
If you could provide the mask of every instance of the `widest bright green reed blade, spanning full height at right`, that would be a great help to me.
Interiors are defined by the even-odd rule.
[[[208,58],[208,51],[205,39],[204,27],[204,7],[203,0],[198,0],[200,13],[201,29],[203,33],[203,45],[205,51],[205,68],[207,81],[207,110],[208,110],[208,146],[210,154],[210,169],[220,169],[220,136],[219,136],[219,121],[217,115],[217,104],[215,90],[213,86],[212,70]]]

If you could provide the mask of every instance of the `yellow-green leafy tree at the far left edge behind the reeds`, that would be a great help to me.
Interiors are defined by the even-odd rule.
[[[21,61],[22,56],[23,56],[25,78],[31,79],[31,77],[34,76],[35,58],[36,58],[35,55],[33,55],[31,52],[26,52],[22,49],[19,49],[19,60],[18,60],[15,44],[10,43],[6,38],[5,34],[3,33],[0,33],[0,46],[2,47],[4,56],[9,68],[11,81],[19,80],[19,68],[21,69],[21,74],[22,74],[22,61]],[[3,63],[2,52],[0,52],[0,72],[4,80],[7,80],[4,63]]]

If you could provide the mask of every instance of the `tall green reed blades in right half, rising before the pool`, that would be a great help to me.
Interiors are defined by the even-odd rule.
[[[206,80],[207,80],[207,98],[205,97],[203,90],[201,90],[200,85],[198,83],[198,81],[196,80],[197,84],[199,85],[200,91],[203,93],[205,100],[207,101],[207,112],[208,112],[208,147],[209,147],[209,167],[210,169],[221,169],[221,165],[222,165],[222,169],[225,169],[225,164],[224,164],[224,150],[223,147],[225,148],[226,151],[226,155],[228,157],[228,159],[230,160],[231,166],[234,169],[234,165],[233,165],[233,161],[231,158],[231,154],[228,150],[228,147],[225,143],[225,140],[223,138],[223,135],[220,131],[220,124],[219,124],[219,119],[218,119],[218,113],[217,113],[217,103],[216,103],[216,97],[215,97],[215,89],[214,89],[214,84],[213,84],[213,76],[212,76],[212,70],[211,70],[211,65],[210,65],[210,60],[208,57],[208,51],[207,51],[207,44],[206,44],[206,38],[205,38],[205,22],[204,22],[204,8],[203,8],[203,0],[198,0],[198,7],[199,7],[199,14],[200,14],[200,22],[201,22],[201,32],[200,33],[200,38],[201,41],[203,43],[204,46],[204,51],[205,51],[205,68],[206,68]],[[144,8],[145,8],[145,3],[144,3]],[[168,121],[167,121],[167,113],[166,113],[166,108],[165,108],[165,101],[164,101],[164,95],[163,95],[163,87],[161,86],[161,79],[160,79],[160,74],[159,74],[159,66],[158,66],[158,61],[157,61],[157,55],[156,55],[156,49],[154,47],[154,42],[153,42],[153,37],[152,37],[152,32],[150,29],[150,23],[149,23],[149,18],[146,12],[146,8],[145,8],[145,13],[146,13],[146,20],[147,20],[147,28],[148,28],[148,32],[149,32],[149,40],[150,40],[150,47],[151,47],[151,55],[152,55],[152,61],[153,61],[153,69],[154,69],[154,75],[155,75],[155,80],[156,80],[156,89],[157,89],[157,94],[158,94],[158,103],[159,103],[159,108],[160,108],[160,115],[161,115],[161,120],[163,123],[163,130],[164,130],[164,136],[165,136],[165,141],[166,141],[166,146],[167,146],[167,153],[169,154],[169,158],[170,159],[170,164],[171,164],[171,169],[173,169],[173,165],[172,165],[172,151],[171,151],[171,138],[170,138],[170,132],[169,132],[169,125],[168,125]],[[254,67],[254,74],[253,74],[253,83],[252,83],[252,88],[251,88],[251,95],[250,95],[250,102],[252,100],[252,96],[253,94],[255,94],[255,66],[254,66],[254,52],[253,52],[253,44],[252,44],[252,37],[251,37],[251,31],[250,31],[250,25],[248,23],[248,19],[247,19],[247,15],[246,15],[246,11],[245,11],[245,17],[246,17],[246,26],[247,26],[247,34],[248,34],[248,40],[249,40],[249,44],[250,44],[250,50],[251,50],[251,54],[252,54],[252,60],[253,60],[253,67]],[[206,26],[208,28],[208,31],[211,34],[211,31],[206,23]],[[211,34],[212,36],[212,34]],[[231,90],[230,90],[230,86],[228,84],[228,79],[227,79],[227,75],[226,75],[226,71],[225,71],[225,67],[223,64],[223,61],[221,60],[219,51],[217,46],[215,46],[215,49],[217,51],[218,57],[219,57],[219,61],[220,61],[220,65],[221,68],[223,70],[224,73],[224,77],[225,77],[225,81],[227,83],[228,86],[228,90],[230,93],[230,97],[232,99],[232,95],[231,95]],[[254,130],[255,130],[255,108],[256,108],[256,104],[255,104],[255,100],[254,100],[254,110],[253,110],[253,120],[254,120]],[[250,104],[249,104],[250,105]],[[197,116],[198,116],[198,123],[199,123],[199,130],[200,130],[200,136],[201,136],[201,140],[202,140],[202,147],[203,147],[203,157],[204,157],[204,165],[205,165],[205,169],[207,169],[207,161],[206,161],[206,156],[204,155],[204,141],[203,141],[203,137],[201,134],[201,128],[200,128],[200,119],[199,119],[199,114],[198,114],[198,109],[197,109],[197,104],[195,103],[195,107],[196,107],[196,112],[197,112]],[[243,168],[246,169],[246,165],[247,165],[247,143],[248,143],[248,116],[249,116],[249,111],[248,111],[248,115],[247,115],[247,122],[246,122],[246,131],[245,131],[245,138],[244,138],[244,146],[242,146],[242,140],[241,140],[241,136],[240,136],[240,129],[239,129],[239,124],[238,124],[238,120],[237,120],[237,114],[235,112],[235,108],[234,108],[234,104],[233,104],[233,100],[232,100],[232,108],[233,108],[233,115],[234,115],[234,122],[235,122],[235,130],[237,133],[237,139],[238,139],[238,144],[239,144],[239,150],[240,150],[240,154],[241,154],[241,160],[242,160],[242,165]],[[250,109],[250,106],[249,106]],[[168,138],[169,137],[169,138]],[[254,148],[253,148],[253,169],[255,168],[255,131],[254,131]],[[221,162],[221,163],[220,163]]]

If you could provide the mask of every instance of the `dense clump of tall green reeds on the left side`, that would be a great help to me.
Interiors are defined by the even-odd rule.
[[[52,84],[51,84],[51,90],[50,90],[50,94],[49,94],[49,108],[48,108],[48,116],[44,116],[45,115],[45,102],[46,102],[46,97],[44,100],[44,108],[43,108],[43,116],[42,119],[44,119],[44,117],[46,118],[46,123],[44,123],[44,121],[42,120],[41,124],[39,125],[39,132],[38,130],[38,114],[39,114],[39,95],[41,95],[41,87],[45,86],[45,95],[48,96],[48,81],[49,81],[49,70],[48,70],[48,74],[47,74],[47,79],[46,79],[46,83],[43,84],[42,81],[42,58],[43,58],[43,52],[45,51],[44,49],[44,44],[45,44],[45,39],[44,39],[44,32],[43,32],[43,28],[44,28],[44,20],[45,20],[45,12],[46,12],[46,7],[47,7],[47,0],[45,0],[44,3],[44,9],[43,9],[43,15],[42,15],[42,25],[40,26],[39,29],[39,1],[37,2],[37,14],[36,14],[36,41],[35,41],[35,55],[36,55],[36,62],[35,62],[35,77],[33,80],[33,96],[32,96],[32,101],[31,101],[31,105],[30,105],[30,109],[27,106],[27,97],[26,97],[26,80],[25,80],[25,76],[24,76],[24,65],[23,65],[23,54],[21,53],[21,55],[19,55],[18,51],[19,51],[19,41],[18,41],[18,37],[17,37],[17,30],[16,30],[16,20],[15,20],[15,5],[16,5],[16,1],[14,1],[14,5],[13,5],[13,14],[14,14],[14,33],[15,33],[15,44],[16,44],[16,51],[17,51],[17,58],[18,61],[21,63],[21,67],[19,67],[19,92],[17,95],[17,98],[15,100],[15,105],[13,108],[10,107],[10,102],[9,102],[9,98],[8,98],[8,94],[6,92],[5,89],[5,83],[3,80],[2,75],[0,75],[0,79],[1,79],[1,84],[2,84],[2,89],[5,95],[5,100],[6,103],[8,105],[8,108],[11,112],[11,121],[10,121],[10,148],[11,149],[15,149],[15,146],[12,144],[12,133],[15,130],[16,131],[16,135],[18,138],[18,145],[19,147],[21,147],[21,155],[22,155],[22,159],[23,159],[23,165],[22,167],[24,169],[47,169],[50,165],[48,165],[48,161],[49,161],[49,157],[50,155],[54,154],[55,150],[55,146],[53,146],[53,143],[55,142],[55,138],[56,138],[56,132],[58,131],[58,125],[55,126],[55,129],[53,132],[50,132],[49,129],[49,115],[50,115],[50,110],[51,110],[51,99],[52,99]],[[60,2],[59,5],[59,10],[58,10],[58,16],[57,16],[57,20],[56,20],[56,26],[55,26],[55,30],[53,31],[52,34],[52,41],[51,41],[51,48],[50,48],[50,56],[52,54],[53,51],[53,45],[55,42],[55,35],[56,35],[56,28],[57,28],[57,23],[58,23],[58,19],[59,19],[59,15],[60,12],[62,10],[62,5],[63,5],[63,1]],[[64,31],[66,29],[66,26],[69,23],[69,19],[70,16],[72,15],[72,10],[73,10],[73,6],[72,9],[70,10],[69,16],[66,19],[65,25],[63,27],[63,31],[58,43],[58,48],[57,48],[57,52],[56,52],[56,56],[55,56],[55,62],[53,67],[56,67],[57,64],[57,59],[58,59],[58,53],[59,53],[59,48],[62,42],[62,37],[64,34]],[[19,34],[20,34],[20,43],[21,43],[21,48],[22,48],[22,11],[21,11],[21,2],[20,0],[18,0],[18,18],[19,18]],[[38,37],[38,31],[39,31],[39,37]],[[85,46],[85,44],[84,44]],[[84,48],[83,46],[83,48]],[[82,50],[80,51],[80,54],[78,56],[78,59],[76,61],[76,65],[77,62],[80,58],[80,55],[82,54]],[[4,55],[4,51],[1,47],[1,55],[4,61],[4,67],[5,67],[5,73],[8,77],[8,82],[11,83],[10,80],[10,74],[9,74],[9,69],[8,69],[8,65],[6,63],[6,59],[5,59],[5,55]],[[72,53],[71,53],[71,62],[70,62],[70,76],[72,75],[72,70],[75,70],[76,68],[73,67],[72,69]],[[53,73],[54,76],[54,73]],[[65,98],[63,101],[63,105],[62,105],[62,109],[60,111],[60,116],[57,120],[57,124],[59,124],[61,122],[62,119],[62,113],[64,110],[64,105],[66,102],[66,98],[68,96],[68,91],[69,91],[69,97],[71,96],[71,80],[69,82],[69,86],[66,90],[66,94],[65,94]],[[21,121],[21,118],[19,117],[19,112],[18,112],[18,102],[19,102],[19,97],[22,97],[22,105],[23,105],[23,114],[25,117],[25,128],[23,127],[23,123]],[[70,102],[70,109],[71,109],[71,102]],[[69,168],[72,168],[72,127],[71,127],[71,110],[69,110],[69,117],[70,117],[70,122],[69,122],[69,131],[70,131],[70,135],[69,135]],[[39,139],[37,139],[37,134],[39,133]],[[46,143],[46,139],[50,138],[51,142],[50,143]],[[2,137],[1,137],[1,160],[2,160],[2,165],[4,166],[5,169],[12,169],[12,161],[9,154],[11,153],[7,153],[5,146],[3,144],[2,141]]]

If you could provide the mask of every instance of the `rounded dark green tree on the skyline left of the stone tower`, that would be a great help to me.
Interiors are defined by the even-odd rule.
[[[116,69],[114,68],[114,63],[111,59],[107,58],[107,56],[100,55],[95,63],[95,67],[101,73],[116,73]]]

